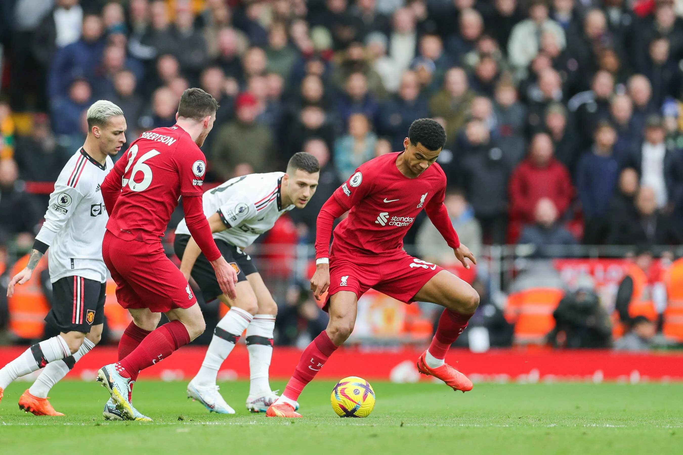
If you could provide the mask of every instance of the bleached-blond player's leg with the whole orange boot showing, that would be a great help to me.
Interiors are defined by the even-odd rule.
[[[50,362],[43,368],[40,376],[19,398],[19,409],[33,413],[33,415],[64,415],[55,411],[48,400],[48,393],[55,384],[63,379],[76,365],[83,355],[93,349],[100,338],[104,325],[94,325],[88,334],[85,334],[83,344],[76,353],[61,360]]]

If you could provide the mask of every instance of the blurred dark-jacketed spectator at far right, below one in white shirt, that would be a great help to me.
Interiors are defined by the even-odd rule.
[[[613,220],[611,233],[607,237],[609,244],[615,245],[675,245],[683,241],[680,229],[677,229],[668,216],[657,209],[655,191],[643,186],[635,200],[636,211],[624,213]]]

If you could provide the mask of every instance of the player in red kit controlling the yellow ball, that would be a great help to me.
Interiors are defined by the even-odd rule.
[[[439,123],[415,120],[404,151],[362,164],[320,209],[311,290],[320,299],[329,288],[324,308],[330,321],[301,355],[285,392],[268,408],[268,417],[301,417],[294,411],[299,394],[351,334],[358,299],[370,288],[402,302],[445,307],[429,349],[417,359],[417,368],[454,390],[472,389],[472,382],[444,359],[477,309],[479,295],[449,271],[403,250],[403,237],[425,209],[462,265],[469,268],[467,259],[476,263],[460,244],[443,205],[446,177],[435,162],[445,142],[446,132]],[[333,222],[346,211],[348,216],[335,229],[329,252]]]

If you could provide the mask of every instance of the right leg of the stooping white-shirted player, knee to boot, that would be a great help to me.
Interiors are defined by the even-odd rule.
[[[249,351],[249,396],[247,409],[251,412],[266,412],[277,398],[276,392],[270,389],[268,369],[273,357],[273,332],[277,304],[270,294],[261,274],[247,275],[256,300],[258,311],[247,327],[247,351]]]

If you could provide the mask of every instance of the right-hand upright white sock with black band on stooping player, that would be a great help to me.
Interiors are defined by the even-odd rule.
[[[273,314],[255,314],[247,327],[247,350],[249,350],[249,396],[257,397],[270,392],[268,369],[273,357]]]

